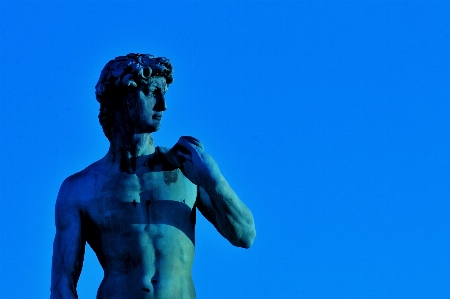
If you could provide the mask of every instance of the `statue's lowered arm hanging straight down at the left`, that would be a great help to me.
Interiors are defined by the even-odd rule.
[[[55,206],[51,299],[78,298],[77,283],[83,266],[86,240],[81,210],[75,203],[70,178],[62,184]]]

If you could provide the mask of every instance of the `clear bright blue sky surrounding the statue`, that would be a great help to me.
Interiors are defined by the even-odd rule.
[[[450,2],[0,1],[1,298],[49,297],[130,52],[174,66],[156,143],[201,139],[256,219],[244,250],[198,217],[198,298],[450,298]],[[101,279],[89,249],[80,298]]]

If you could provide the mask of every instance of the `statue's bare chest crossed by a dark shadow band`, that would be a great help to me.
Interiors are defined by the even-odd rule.
[[[193,234],[197,187],[179,169],[105,175],[91,194],[86,212],[96,238]]]

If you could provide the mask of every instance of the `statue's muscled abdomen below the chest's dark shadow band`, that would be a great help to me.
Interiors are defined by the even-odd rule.
[[[133,224],[129,230],[102,234],[104,278],[97,299],[194,299],[194,244],[175,227]]]

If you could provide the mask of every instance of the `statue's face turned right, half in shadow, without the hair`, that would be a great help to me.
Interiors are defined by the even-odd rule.
[[[130,119],[136,133],[152,133],[159,130],[162,114],[166,110],[164,95],[167,91],[164,77],[152,77],[148,85],[132,94]]]

